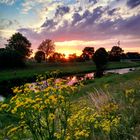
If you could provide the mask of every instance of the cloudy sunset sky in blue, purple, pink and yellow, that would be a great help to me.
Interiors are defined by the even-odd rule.
[[[140,52],[140,0],[0,0],[0,47],[20,32],[37,49],[52,39],[56,51],[86,46]]]

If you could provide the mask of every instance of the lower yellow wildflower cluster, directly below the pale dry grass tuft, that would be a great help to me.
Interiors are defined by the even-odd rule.
[[[120,124],[121,117],[117,111],[118,105],[115,103],[107,103],[100,110],[83,107],[68,119],[68,135],[76,140],[96,136],[99,132],[108,135]]]

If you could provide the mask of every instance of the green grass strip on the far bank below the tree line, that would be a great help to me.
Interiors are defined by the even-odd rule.
[[[140,62],[110,62],[107,69],[137,67]],[[16,78],[31,78],[37,74],[43,74],[48,71],[60,70],[63,75],[86,73],[95,71],[96,67],[93,62],[74,62],[64,64],[47,64],[47,63],[27,63],[27,67],[22,69],[8,69],[0,71],[0,82]]]

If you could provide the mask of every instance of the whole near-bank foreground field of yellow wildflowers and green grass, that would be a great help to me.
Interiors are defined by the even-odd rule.
[[[140,139],[140,70],[106,75],[80,86],[63,81],[58,90],[53,79],[48,82],[49,88],[37,87],[36,93],[28,85],[22,87],[23,94],[16,88],[17,95],[1,104],[0,139]]]

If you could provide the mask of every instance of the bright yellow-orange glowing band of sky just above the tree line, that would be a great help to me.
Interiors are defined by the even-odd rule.
[[[115,45],[114,42],[117,42],[117,41],[112,39],[112,40],[107,40],[107,41],[106,40],[104,41],[71,40],[71,41],[55,42],[55,52],[65,54],[65,58],[68,59],[70,54],[75,53],[77,56],[80,56],[82,54],[82,50],[88,46],[94,47],[95,51],[100,47],[104,47],[106,51],[110,51],[111,48]],[[131,47],[130,45],[129,46],[127,44],[125,45],[125,43],[122,42],[120,47],[124,50],[124,53],[127,53],[127,52],[140,53],[139,46]],[[34,49],[30,57],[34,57],[36,51],[37,49]]]

